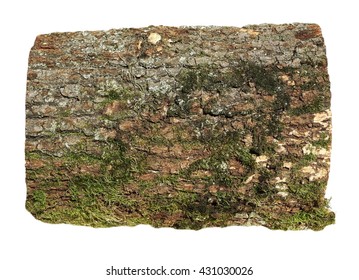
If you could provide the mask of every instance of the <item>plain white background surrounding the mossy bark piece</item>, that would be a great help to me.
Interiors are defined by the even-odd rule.
[[[252,266],[254,275],[248,279],[358,279],[359,61],[358,9],[354,3],[1,1],[0,279],[108,279],[105,270],[111,265],[164,265],[197,270],[201,266]],[[25,210],[26,74],[36,35],[148,25],[240,27],[292,22],[320,24],[327,46],[333,112],[327,195],[332,197],[331,205],[337,215],[335,225],[321,232],[283,232],[260,227],[196,232],[149,226],[92,229],[44,224]],[[138,278],[141,279],[122,277]],[[205,277],[175,277],[200,278]],[[237,278],[240,277],[228,277]]]

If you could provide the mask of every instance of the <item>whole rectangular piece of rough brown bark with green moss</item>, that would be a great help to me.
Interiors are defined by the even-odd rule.
[[[330,87],[315,24],[40,35],[27,209],[49,223],[322,229]]]

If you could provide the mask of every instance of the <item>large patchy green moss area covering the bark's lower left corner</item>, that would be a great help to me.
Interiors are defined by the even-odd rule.
[[[29,211],[50,223],[69,222],[95,227],[118,225],[123,217],[119,217],[115,209],[135,211],[138,207],[138,198],[126,194],[124,186],[130,183],[134,174],[141,174],[145,159],[140,154],[128,153],[127,146],[119,140],[107,141],[102,152],[94,155],[70,150],[60,158],[29,153],[29,158],[45,158],[47,161],[47,165],[36,170],[36,174],[27,174],[39,176],[34,179],[41,178],[39,185],[43,186],[41,191],[30,195],[27,201]],[[81,166],[98,166],[99,173],[82,174],[76,171]],[[64,168],[71,170],[73,175],[60,173]],[[58,197],[46,194],[51,187],[64,189],[66,185],[61,204]]]

